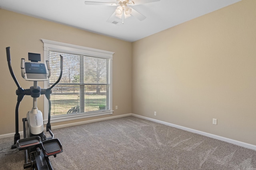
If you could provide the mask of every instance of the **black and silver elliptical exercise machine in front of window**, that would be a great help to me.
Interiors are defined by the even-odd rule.
[[[53,170],[49,156],[56,157],[56,154],[63,152],[63,149],[60,141],[54,138],[54,134],[51,131],[50,94],[52,93],[52,88],[60,81],[62,77],[63,57],[60,55],[60,76],[58,80],[50,88],[41,89],[40,86],[38,86],[38,81],[46,81],[48,78],[50,78],[51,73],[49,61],[46,61],[46,69],[44,63],[38,63],[38,61],[41,61],[40,54],[28,53],[28,60],[31,62],[25,62],[25,59],[21,59],[21,74],[25,80],[33,81],[34,85],[29,89],[23,89],[21,88],[14,75],[14,72],[12,71],[10,47],[6,47],[6,55],[10,73],[18,87],[16,90],[18,99],[15,109],[16,128],[14,135],[14,145],[12,145],[12,149],[18,148],[19,150],[24,150],[24,169],[31,168],[32,170]],[[49,103],[48,123],[46,124],[46,132],[49,132],[50,134],[50,137],[48,138],[44,134],[44,121],[42,112],[37,108],[37,98],[39,98],[41,94],[46,96]],[[33,107],[30,111],[28,111],[27,117],[22,119],[24,138],[20,139],[20,134],[18,131],[18,109],[20,102],[25,95],[29,95],[33,98]]]

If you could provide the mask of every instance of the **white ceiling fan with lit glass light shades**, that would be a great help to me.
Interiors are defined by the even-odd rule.
[[[138,20],[145,20],[145,16],[140,14],[138,11],[134,10],[130,6],[139,5],[139,4],[147,4],[151,2],[157,2],[160,0],[113,0],[113,2],[95,2],[95,1],[84,1],[86,5],[104,5],[104,6],[118,6],[115,12],[110,16],[107,22],[111,22],[114,24],[124,23],[124,18],[128,18],[130,16],[136,17]],[[119,19],[118,19],[119,18]]]

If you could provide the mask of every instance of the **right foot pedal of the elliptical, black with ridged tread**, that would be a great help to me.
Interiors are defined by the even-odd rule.
[[[42,142],[44,156],[52,156],[63,152],[62,145],[59,139],[49,139]]]

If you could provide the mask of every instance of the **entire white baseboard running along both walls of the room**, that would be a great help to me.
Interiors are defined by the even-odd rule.
[[[82,125],[82,124],[86,124],[86,123],[92,123],[92,122],[97,122],[97,121],[115,119],[115,118],[126,117],[126,116],[139,117],[139,118],[146,119],[146,120],[149,120],[149,121],[154,121],[156,123],[161,123],[161,124],[168,125],[168,126],[171,126],[171,127],[176,127],[178,129],[182,129],[184,131],[189,131],[189,132],[192,132],[192,133],[197,133],[197,134],[204,135],[204,136],[207,136],[207,137],[210,137],[210,138],[213,138],[213,139],[218,139],[220,141],[225,141],[225,142],[228,142],[228,143],[232,143],[234,145],[238,145],[238,146],[245,147],[245,148],[248,148],[248,149],[256,150],[256,145],[251,145],[251,144],[244,143],[244,142],[241,142],[241,141],[236,141],[236,140],[229,139],[229,138],[226,138],[226,137],[221,137],[221,136],[218,136],[218,135],[213,135],[213,134],[210,134],[210,133],[206,133],[206,132],[198,131],[198,130],[195,130],[195,129],[190,129],[190,128],[187,128],[187,127],[183,127],[183,126],[180,126],[180,125],[175,125],[175,124],[172,124],[172,123],[168,123],[168,122],[152,119],[152,118],[149,118],[149,117],[145,117],[145,116],[141,116],[141,115],[136,115],[136,114],[133,114],[133,113],[128,113],[128,114],[124,114],[124,115],[117,115],[117,116],[111,116],[111,117],[104,117],[104,118],[99,118],[99,119],[92,119],[92,120],[87,120],[87,121],[80,121],[80,122],[76,122],[76,123],[68,123],[68,124],[64,124],[64,125],[56,125],[56,126],[52,126],[52,129],[58,129],[58,128],[63,128],[63,127],[70,127],[70,126],[75,126],[75,125]],[[23,131],[21,131],[19,133],[21,135],[23,135]],[[6,137],[14,137],[14,134],[15,133],[8,133],[8,134],[0,135],[0,139],[1,138],[6,138]]]

